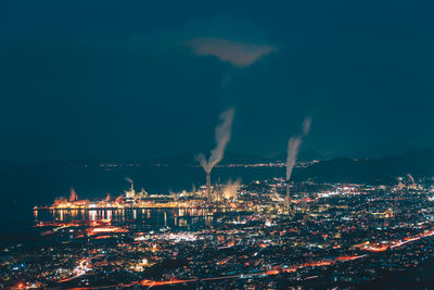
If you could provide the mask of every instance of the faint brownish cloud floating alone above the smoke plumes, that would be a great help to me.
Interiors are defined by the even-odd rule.
[[[269,45],[233,41],[218,37],[195,38],[187,43],[197,56],[213,55],[238,67],[246,67],[277,49]]]

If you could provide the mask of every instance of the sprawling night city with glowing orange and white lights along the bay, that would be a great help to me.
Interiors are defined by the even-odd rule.
[[[207,204],[205,190],[156,202],[131,186],[118,209],[92,210],[91,202],[75,207],[72,193],[49,210],[35,210],[40,240],[2,250],[0,287],[278,289],[433,281],[426,277],[434,263],[432,180],[292,184],[288,203],[286,182],[275,178],[237,185],[232,196],[214,200],[220,206],[187,206]],[[44,219],[43,211],[52,218]]]

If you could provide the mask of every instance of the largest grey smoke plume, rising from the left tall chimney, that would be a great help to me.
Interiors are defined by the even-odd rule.
[[[210,173],[213,167],[224,157],[226,146],[231,137],[231,128],[234,109],[228,109],[220,114],[221,123],[216,127],[216,148],[210,151],[209,159],[206,160],[204,154],[199,154],[196,160],[206,173]]]

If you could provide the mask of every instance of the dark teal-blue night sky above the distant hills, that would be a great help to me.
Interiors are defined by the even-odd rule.
[[[0,3],[0,159],[434,144],[432,1]]]

